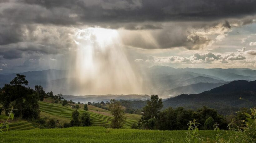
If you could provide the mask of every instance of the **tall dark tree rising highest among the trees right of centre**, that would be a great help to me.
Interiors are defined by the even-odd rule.
[[[148,120],[150,118],[156,118],[160,113],[160,109],[163,108],[162,99],[158,95],[151,95],[150,101],[147,101],[147,105],[142,109],[142,120]]]

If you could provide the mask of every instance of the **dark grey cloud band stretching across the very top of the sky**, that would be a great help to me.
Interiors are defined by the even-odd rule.
[[[1,17],[57,25],[142,21],[205,21],[254,15],[252,0],[21,0],[1,7]]]

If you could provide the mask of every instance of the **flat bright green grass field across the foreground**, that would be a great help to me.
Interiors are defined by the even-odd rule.
[[[205,141],[213,142],[213,130],[199,131]],[[54,142],[54,143],[157,143],[184,142],[186,131],[156,131],[136,129],[106,129],[105,127],[70,127],[62,129],[40,129],[5,132],[0,141],[8,143]]]

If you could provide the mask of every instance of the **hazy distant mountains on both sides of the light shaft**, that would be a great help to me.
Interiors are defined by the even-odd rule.
[[[157,94],[161,98],[175,97],[182,93],[197,94],[219,87],[234,80],[256,80],[256,70],[242,69],[202,69],[172,68],[169,66],[153,66],[143,71],[143,91],[145,94]],[[79,90],[77,77],[67,77],[66,70],[48,69],[19,73],[26,75],[30,87],[42,85],[44,90],[54,94],[73,95]],[[0,87],[9,83],[16,73],[0,74]]]

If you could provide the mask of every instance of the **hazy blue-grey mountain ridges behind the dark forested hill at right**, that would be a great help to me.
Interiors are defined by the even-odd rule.
[[[150,93],[158,94],[162,98],[168,98],[179,95],[179,93],[201,93],[202,90],[200,88],[194,88],[199,85],[202,86],[202,89],[209,90],[221,85],[217,83],[228,83],[234,80],[253,81],[256,80],[256,70],[247,68],[175,69],[169,66],[153,66],[149,70],[148,77],[151,79],[152,84],[152,88],[149,89]],[[185,88],[185,86],[188,86],[188,88]],[[180,91],[180,89],[183,89],[183,91]]]

